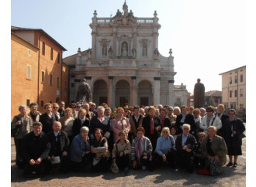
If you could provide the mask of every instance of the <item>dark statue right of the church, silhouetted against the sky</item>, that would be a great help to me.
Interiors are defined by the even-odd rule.
[[[205,107],[205,86],[197,79],[194,87],[194,107]]]

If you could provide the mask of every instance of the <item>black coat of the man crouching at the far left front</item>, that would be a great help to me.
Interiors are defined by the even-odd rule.
[[[37,158],[47,159],[50,151],[50,142],[48,141],[47,134],[43,131],[38,135],[30,132],[26,134],[22,141],[22,157],[26,162],[30,159],[36,160]]]

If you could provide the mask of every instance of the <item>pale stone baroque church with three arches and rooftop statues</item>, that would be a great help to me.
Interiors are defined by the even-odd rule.
[[[86,79],[92,101],[109,107],[168,104],[175,106],[174,57],[158,51],[157,12],[154,17],[139,18],[128,11],[109,18],[97,17],[92,23],[92,48],[63,59],[70,66],[70,101],[76,100],[78,86]],[[185,89],[185,94],[187,93]],[[184,95],[184,94],[183,94]],[[182,95],[181,95],[182,97]],[[183,104],[187,104],[186,95]]]

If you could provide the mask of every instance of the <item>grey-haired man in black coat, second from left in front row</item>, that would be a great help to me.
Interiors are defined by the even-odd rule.
[[[50,160],[57,162],[57,159],[61,161],[61,172],[67,172],[67,148],[69,146],[69,140],[67,133],[61,131],[61,122],[54,121],[53,130],[50,131],[48,139],[50,141]],[[52,169],[52,165],[50,167]]]

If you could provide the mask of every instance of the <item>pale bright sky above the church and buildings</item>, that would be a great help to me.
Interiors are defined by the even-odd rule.
[[[98,17],[123,12],[123,0],[12,0],[11,25],[43,29],[61,43],[64,57],[92,47],[93,12]],[[175,57],[175,85],[193,93],[201,79],[206,91],[221,90],[220,73],[245,66],[245,2],[237,0],[127,0],[135,17],[157,17],[158,50]]]

